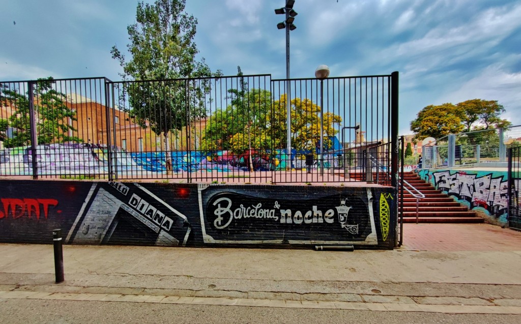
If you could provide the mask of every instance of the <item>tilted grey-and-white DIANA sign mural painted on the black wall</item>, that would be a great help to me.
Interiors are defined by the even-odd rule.
[[[138,183],[96,183],[66,242],[185,245],[187,217]],[[88,207],[87,207],[88,206]]]

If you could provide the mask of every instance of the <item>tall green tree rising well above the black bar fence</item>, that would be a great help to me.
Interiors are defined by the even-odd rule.
[[[197,19],[185,13],[185,0],[156,0],[154,4],[139,2],[136,22],[128,26],[130,59],[111,49],[112,57],[123,68],[123,80],[168,80],[126,83],[122,99],[129,101],[129,114],[141,127],[150,127],[163,135],[169,147],[169,132],[189,128],[206,116],[205,95],[210,80],[169,80],[220,76],[212,73],[193,39]],[[120,98],[121,99],[121,98]],[[190,131],[187,130],[190,134]],[[177,134],[177,131],[176,131]]]

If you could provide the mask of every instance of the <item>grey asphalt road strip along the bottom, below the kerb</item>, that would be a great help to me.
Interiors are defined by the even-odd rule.
[[[297,309],[0,298],[0,323],[472,323],[519,324],[521,315]]]

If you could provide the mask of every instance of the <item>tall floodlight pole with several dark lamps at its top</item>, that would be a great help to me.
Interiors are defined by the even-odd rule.
[[[286,138],[286,149],[291,158],[291,109],[290,109],[290,30],[295,30],[296,26],[293,24],[295,16],[298,15],[293,10],[295,0],[286,0],[286,6],[283,8],[275,9],[275,14],[283,15],[286,14],[286,19],[283,22],[277,24],[278,29],[286,29],[286,123],[287,123],[287,138]],[[291,164],[290,164],[291,165]]]

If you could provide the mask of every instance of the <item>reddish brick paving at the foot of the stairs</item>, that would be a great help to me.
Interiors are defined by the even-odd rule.
[[[401,248],[407,251],[521,251],[521,232],[486,223],[406,223]]]

